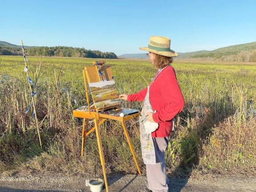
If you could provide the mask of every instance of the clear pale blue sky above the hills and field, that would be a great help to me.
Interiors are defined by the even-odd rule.
[[[0,0],[0,40],[143,53],[150,36],[176,52],[256,41],[255,0]]]

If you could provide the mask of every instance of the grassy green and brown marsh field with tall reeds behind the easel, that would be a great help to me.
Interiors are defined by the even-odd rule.
[[[72,117],[73,109],[86,105],[82,70],[94,60],[28,57],[28,61],[30,77],[36,84],[43,149],[35,120],[24,112],[30,96],[23,57],[2,56],[0,172],[26,169],[87,174],[94,172],[94,166],[100,169],[93,134],[86,138],[85,155],[80,157],[82,120]],[[107,60],[107,64],[112,66],[119,93],[139,91],[156,72],[148,60]],[[172,66],[185,107],[176,117],[176,132],[170,137],[166,154],[168,173],[256,175],[256,63],[174,60]],[[140,105],[123,103],[127,108],[139,109]],[[138,124],[130,121],[127,126],[145,173]],[[101,135],[108,173],[135,173],[136,166],[120,124],[105,122]]]

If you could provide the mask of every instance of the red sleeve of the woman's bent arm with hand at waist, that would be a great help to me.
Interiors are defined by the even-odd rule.
[[[175,72],[164,78],[165,86],[160,90],[166,105],[153,113],[153,120],[156,123],[172,120],[184,107],[184,98],[175,76]]]

